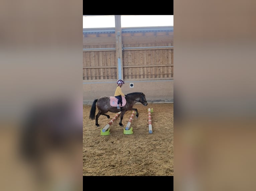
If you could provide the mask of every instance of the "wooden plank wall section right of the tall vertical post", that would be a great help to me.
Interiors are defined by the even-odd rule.
[[[173,46],[173,32],[123,33],[122,35],[125,80],[173,79],[173,48],[165,48]],[[154,48],[125,49],[130,47]]]

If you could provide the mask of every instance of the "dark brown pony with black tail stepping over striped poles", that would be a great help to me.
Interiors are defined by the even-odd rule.
[[[145,94],[143,94],[142,92],[133,92],[133,93],[127,94],[127,95],[125,95],[125,99],[126,99],[126,104],[123,107],[121,107],[120,109],[117,109],[116,106],[111,106],[110,105],[110,96],[102,96],[99,99],[95,99],[93,101],[93,104],[92,104],[92,107],[91,107],[89,118],[92,119],[92,120],[95,119],[95,125],[100,126],[99,123],[98,123],[98,119],[99,119],[100,115],[105,115],[108,118],[110,118],[110,116],[106,114],[107,112],[117,113],[121,110],[119,125],[123,126],[122,120],[123,120],[123,117],[124,117],[124,114],[126,113],[126,111],[135,110],[136,111],[136,118],[139,117],[138,109],[133,108],[133,105],[136,102],[140,102],[144,106],[147,106],[147,104],[148,104],[147,100],[146,100],[146,97],[145,97]],[[99,112],[97,113],[97,115],[95,117],[96,106],[97,106]]]

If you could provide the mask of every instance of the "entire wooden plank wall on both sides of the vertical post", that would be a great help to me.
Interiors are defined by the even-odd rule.
[[[122,33],[122,44],[124,80],[173,79],[173,32]],[[87,34],[83,48],[115,48],[115,34]],[[115,49],[87,50],[83,52],[83,80],[116,80],[117,65]]]

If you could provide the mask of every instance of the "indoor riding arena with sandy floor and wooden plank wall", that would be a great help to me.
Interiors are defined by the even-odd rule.
[[[114,96],[118,79],[147,105],[137,101],[123,126],[118,112],[96,126],[92,103]],[[116,15],[114,28],[83,29],[83,90],[84,176],[173,176],[173,26],[122,28]]]

